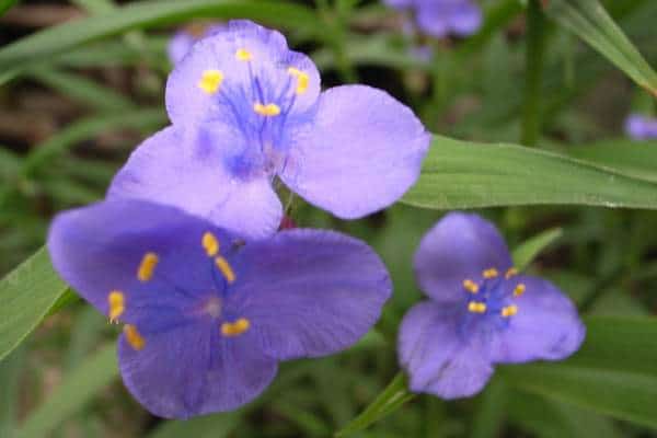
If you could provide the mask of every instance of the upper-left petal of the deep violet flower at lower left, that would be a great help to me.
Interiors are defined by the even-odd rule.
[[[175,208],[105,201],[58,215],[48,250],[59,275],[101,312],[154,330],[188,321],[194,298],[215,285],[207,231],[224,246],[234,241]]]

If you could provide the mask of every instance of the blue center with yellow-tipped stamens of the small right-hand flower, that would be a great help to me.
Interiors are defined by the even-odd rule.
[[[479,283],[470,278],[463,280],[464,306],[459,322],[462,336],[469,336],[472,331],[502,331],[508,326],[509,320],[519,312],[514,299],[526,289],[523,284],[509,285],[516,274],[516,268],[504,275],[488,268]]]

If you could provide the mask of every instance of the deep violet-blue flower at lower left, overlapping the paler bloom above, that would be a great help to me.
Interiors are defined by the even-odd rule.
[[[59,215],[48,249],[84,299],[126,324],[123,380],[162,417],[247,403],[279,360],[354,344],[391,293],[384,265],[358,240],[298,229],[244,244],[200,218],[140,200]]]

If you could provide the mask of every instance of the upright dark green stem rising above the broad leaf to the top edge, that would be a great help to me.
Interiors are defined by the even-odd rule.
[[[545,16],[540,0],[529,0],[527,9],[527,54],[525,110],[520,142],[535,146],[541,134],[541,89],[545,61]]]

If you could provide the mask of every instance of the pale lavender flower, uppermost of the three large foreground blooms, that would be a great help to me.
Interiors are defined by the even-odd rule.
[[[430,140],[383,91],[320,93],[312,61],[249,21],[194,46],[169,78],[166,107],[173,127],[134,152],[110,197],[171,204],[249,238],[280,222],[276,176],[311,204],[359,218],[406,192]]]

